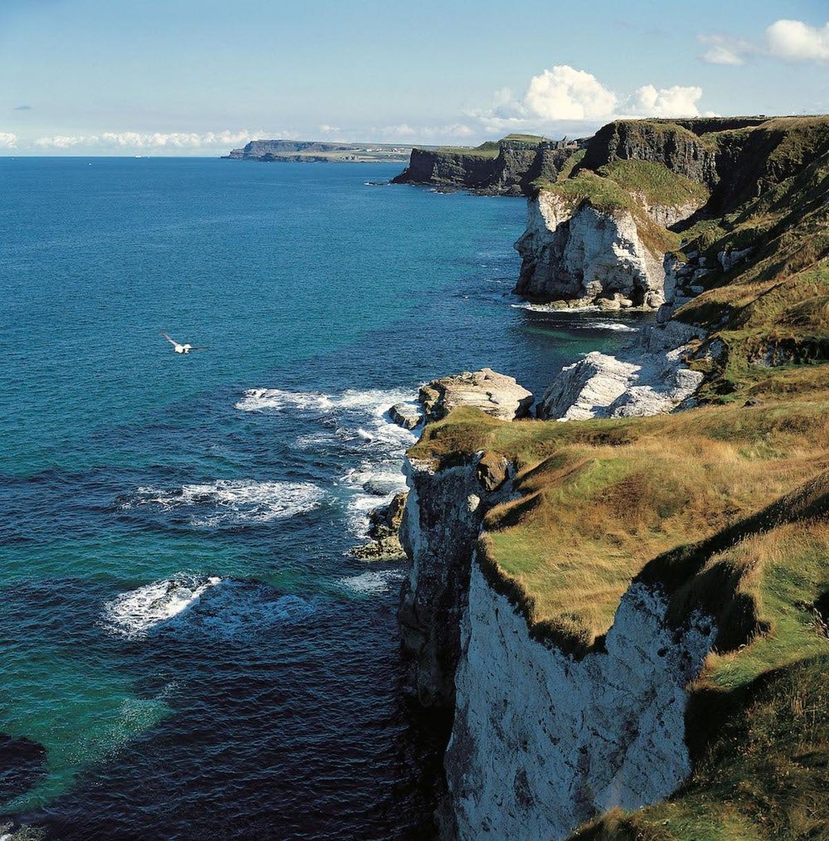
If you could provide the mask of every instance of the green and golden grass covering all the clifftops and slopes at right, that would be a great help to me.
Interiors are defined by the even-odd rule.
[[[488,515],[480,563],[547,643],[577,655],[600,643],[637,575],[668,588],[674,621],[700,605],[717,616],[716,650],[691,687],[688,784],[577,838],[829,838],[827,127],[774,120],[705,138],[743,153],[721,214],[684,232],[684,251],[715,265],[678,314],[724,348],[694,362],[708,405],[567,424],[456,410],[412,453],[455,463],[487,449],[517,463],[521,499]],[[675,187],[636,164],[577,168],[553,188],[629,207],[636,190],[663,196],[663,182]],[[730,272],[715,263],[746,247]]]

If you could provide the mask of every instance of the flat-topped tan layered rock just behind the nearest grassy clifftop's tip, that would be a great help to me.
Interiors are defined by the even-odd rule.
[[[492,368],[454,374],[426,383],[420,389],[426,421],[440,421],[456,406],[473,406],[501,421],[514,421],[530,414],[531,392]]]

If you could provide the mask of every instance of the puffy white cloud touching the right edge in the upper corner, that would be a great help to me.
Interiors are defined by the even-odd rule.
[[[700,35],[708,49],[700,56],[709,64],[742,65],[750,56],[782,61],[829,61],[829,23],[811,26],[802,20],[775,20],[763,34],[763,44],[752,44],[726,34]]]

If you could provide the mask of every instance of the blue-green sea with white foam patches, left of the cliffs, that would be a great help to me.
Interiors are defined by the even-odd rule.
[[[349,554],[413,440],[383,412],[631,334],[510,305],[522,200],[366,183],[395,172],[0,159],[0,815],[430,837],[404,569]]]

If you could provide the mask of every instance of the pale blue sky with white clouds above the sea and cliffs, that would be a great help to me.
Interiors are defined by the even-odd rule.
[[[0,0],[0,155],[826,112],[827,0]]]

